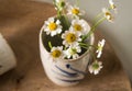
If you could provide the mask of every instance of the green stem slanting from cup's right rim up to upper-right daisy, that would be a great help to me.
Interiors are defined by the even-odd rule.
[[[96,23],[94,24],[94,26],[90,29],[90,31],[88,32],[88,34],[86,34],[86,36],[82,37],[82,41],[85,41],[87,37],[89,37],[89,36],[95,32],[95,29],[96,29],[100,23],[102,23],[105,20],[106,20],[106,18],[102,18],[102,19],[100,19],[98,22],[96,22]]]

